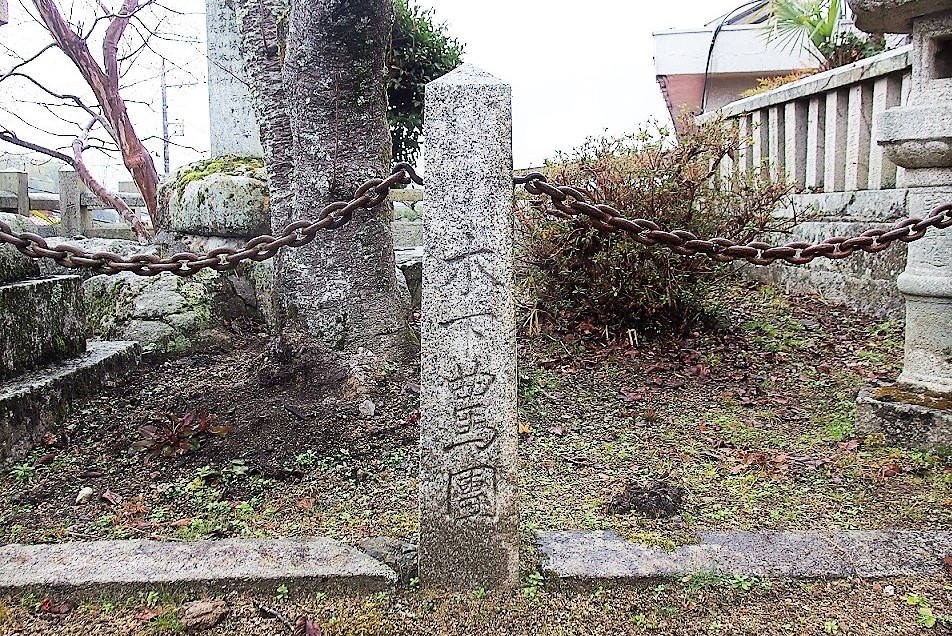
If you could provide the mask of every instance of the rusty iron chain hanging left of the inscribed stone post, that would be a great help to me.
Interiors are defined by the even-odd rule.
[[[231,271],[243,261],[265,261],[273,258],[282,247],[301,247],[314,240],[321,230],[335,230],[346,224],[355,210],[380,205],[390,190],[410,183],[422,185],[423,180],[410,164],[394,164],[386,178],[369,179],[354,193],[350,201],[336,201],[324,207],[317,219],[294,221],[277,236],[258,236],[244,246],[234,249],[219,247],[206,254],[179,252],[161,258],[153,254],[122,256],[113,252],[86,252],[73,245],[50,247],[46,239],[32,232],[15,232],[0,221],[0,243],[8,243],[30,258],[49,258],[62,267],[86,268],[100,274],[132,272],[139,276],[156,276],[172,272],[178,276],[192,276],[203,269]]]

